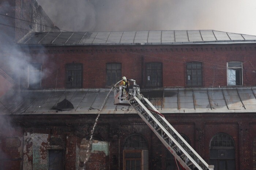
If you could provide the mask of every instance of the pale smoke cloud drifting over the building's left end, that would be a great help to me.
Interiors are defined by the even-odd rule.
[[[27,88],[30,84],[32,87],[35,87],[35,84],[37,84],[36,86],[40,86],[42,79],[49,75],[49,71],[47,69],[41,70],[40,65],[47,61],[47,56],[40,53],[40,57],[36,57],[36,54],[32,54],[34,56],[31,56],[30,52],[26,52],[29,51],[27,47],[21,47],[15,44],[15,32],[18,33],[21,30],[18,28],[15,29],[15,12],[8,13],[15,11],[13,5],[15,4],[9,4],[6,1],[0,3],[0,13],[6,14],[6,16],[0,16],[0,69],[5,72],[4,74],[11,77],[17,86],[21,85],[22,88]],[[20,24],[26,25],[28,23],[24,22]],[[44,48],[41,47],[41,50],[44,50]],[[38,58],[38,60],[34,61],[34,57]]]

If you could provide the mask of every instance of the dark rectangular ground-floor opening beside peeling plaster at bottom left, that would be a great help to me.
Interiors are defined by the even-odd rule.
[[[63,150],[48,150],[48,169],[49,170],[63,170],[64,159]]]

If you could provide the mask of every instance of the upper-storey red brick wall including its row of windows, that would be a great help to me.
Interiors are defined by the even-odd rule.
[[[256,84],[255,44],[30,46],[20,88],[110,88],[122,76],[142,88]]]

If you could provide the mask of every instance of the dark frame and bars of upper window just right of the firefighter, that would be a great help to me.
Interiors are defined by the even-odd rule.
[[[160,69],[158,69],[158,68],[152,69],[152,66],[151,66],[151,69],[148,69],[148,65],[150,65],[150,64],[156,64],[156,67],[158,67],[158,64],[159,64],[161,68]],[[145,64],[145,70],[146,70],[145,71],[145,73],[146,73],[145,86],[146,87],[163,87],[163,63],[162,62],[148,62]],[[156,79],[156,82],[155,82],[156,86],[153,85],[153,83],[152,83],[153,80],[148,80],[149,76],[153,77],[153,75],[152,75],[153,70],[156,71],[156,72],[154,72],[155,79]],[[150,75],[148,74],[148,71],[151,71]],[[160,75],[160,78],[158,77],[158,74]],[[150,77],[150,79],[152,79],[151,77]],[[158,81],[158,79],[160,79],[160,80]],[[148,83],[149,81],[151,82],[150,84]]]

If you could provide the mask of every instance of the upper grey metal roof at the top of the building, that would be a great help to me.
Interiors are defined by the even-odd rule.
[[[83,46],[137,44],[255,43],[256,36],[214,30],[30,32],[20,44]]]

